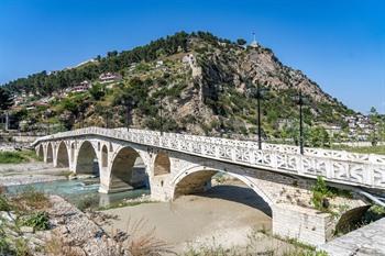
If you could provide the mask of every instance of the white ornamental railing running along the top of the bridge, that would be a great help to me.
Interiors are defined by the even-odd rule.
[[[110,137],[244,166],[311,178],[323,176],[333,182],[385,189],[385,156],[374,154],[306,148],[305,154],[300,155],[299,148],[292,145],[263,144],[260,151],[257,143],[251,141],[101,127],[86,127],[44,136],[33,145],[81,135]]]

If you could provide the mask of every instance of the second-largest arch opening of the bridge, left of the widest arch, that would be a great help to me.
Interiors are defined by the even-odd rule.
[[[143,158],[131,146],[123,146],[116,152],[110,174],[110,192],[140,188],[148,183]]]

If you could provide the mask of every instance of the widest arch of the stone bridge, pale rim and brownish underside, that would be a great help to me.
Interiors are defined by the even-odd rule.
[[[216,174],[228,174],[233,178],[245,183],[249,188],[251,188],[258,197],[263,199],[264,202],[268,204],[273,209],[274,201],[249,177],[240,174],[234,174],[232,171],[224,171],[218,168],[205,167],[205,166],[193,166],[184,169],[178,175],[174,177],[172,180],[172,197],[173,200],[183,194],[196,193],[206,191],[211,187],[211,178]]]

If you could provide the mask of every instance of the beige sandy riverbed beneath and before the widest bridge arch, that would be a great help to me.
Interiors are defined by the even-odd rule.
[[[239,186],[217,186],[205,196],[106,212],[118,215],[118,220],[103,226],[108,233],[127,230],[130,221],[143,219],[146,232],[155,227],[156,237],[179,253],[201,244],[245,245],[253,229],[271,230],[268,207],[251,189]]]

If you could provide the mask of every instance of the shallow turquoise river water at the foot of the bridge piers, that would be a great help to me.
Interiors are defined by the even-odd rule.
[[[31,188],[47,194],[61,196],[79,208],[84,207],[86,203],[92,208],[108,207],[111,203],[117,203],[124,199],[134,199],[142,194],[150,193],[150,189],[147,188],[109,194],[99,193],[99,183],[97,182],[97,179],[57,180],[51,182],[10,186],[7,187],[7,192],[14,194],[26,191]]]

